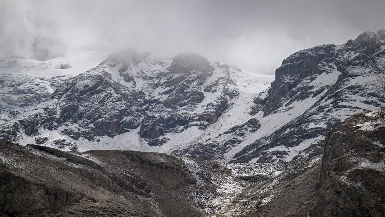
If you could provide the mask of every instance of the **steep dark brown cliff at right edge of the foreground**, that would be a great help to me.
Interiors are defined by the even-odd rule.
[[[315,216],[382,216],[384,181],[385,107],[354,115],[326,136]]]

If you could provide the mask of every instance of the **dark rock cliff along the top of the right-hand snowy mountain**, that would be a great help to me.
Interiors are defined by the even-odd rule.
[[[299,92],[302,95],[313,94],[296,87],[303,80],[308,78],[312,81],[317,77],[315,75],[327,71],[324,66],[329,63],[334,63],[337,70],[341,72],[337,83],[344,78],[362,76],[361,72],[351,69],[354,66],[373,66],[377,71],[375,73],[384,73],[384,66],[377,67],[381,62],[371,57],[383,56],[380,51],[384,39],[385,30],[380,30],[377,34],[364,32],[357,39],[349,40],[343,46],[326,44],[298,51],[282,61],[281,67],[275,71],[276,79],[271,83],[268,92],[262,92],[254,99],[254,103],[260,105],[264,115],[268,115],[282,105],[284,97],[293,98]],[[349,58],[353,55],[355,55],[353,58]],[[346,58],[347,56],[348,58]],[[266,96],[264,97],[264,95]]]

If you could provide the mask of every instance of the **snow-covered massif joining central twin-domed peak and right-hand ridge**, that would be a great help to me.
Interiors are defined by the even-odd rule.
[[[321,154],[326,133],[346,117],[385,105],[384,30],[298,51],[275,80],[191,53],[127,49],[100,62],[2,124],[0,140],[291,161]]]

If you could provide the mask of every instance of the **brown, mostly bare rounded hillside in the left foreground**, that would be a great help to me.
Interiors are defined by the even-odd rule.
[[[182,189],[194,183],[165,154],[1,144],[0,212],[9,216],[201,216]],[[170,203],[174,199],[172,204]]]

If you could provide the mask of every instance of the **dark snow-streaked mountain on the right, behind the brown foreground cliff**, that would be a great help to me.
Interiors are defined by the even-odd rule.
[[[291,161],[323,153],[326,133],[351,115],[385,105],[385,30],[346,44],[292,54],[247,122],[203,134],[174,154],[225,162]],[[208,128],[209,129],[209,128]]]

